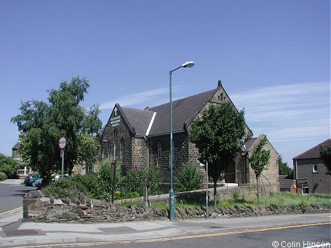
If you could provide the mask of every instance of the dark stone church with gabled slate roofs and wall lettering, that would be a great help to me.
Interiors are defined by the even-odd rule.
[[[189,141],[192,120],[208,105],[221,105],[225,102],[232,103],[223,89],[221,81],[214,90],[172,102],[174,178],[179,176],[183,163],[200,165],[198,149]],[[156,165],[159,168],[163,189],[168,189],[170,185],[169,118],[169,103],[146,107],[145,110],[121,107],[117,103],[114,105],[108,123],[100,133],[99,158],[108,156],[115,158],[117,166],[121,166],[123,174],[127,168],[133,165]],[[252,136],[252,131],[248,127],[246,131]],[[245,163],[244,159],[253,143],[249,143],[250,147],[246,147],[247,151],[239,154],[237,162],[226,169],[225,180],[229,183],[247,184],[254,180],[252,178],[254,175],[251,174],[249,165]],[[272,146],[270,147],[273,149]],[[277,152],[273,149],[272,154],[277,154]],[[270,174],[268,180],[277,183],[278,156],[270,159],[268,168],[268,175]]]

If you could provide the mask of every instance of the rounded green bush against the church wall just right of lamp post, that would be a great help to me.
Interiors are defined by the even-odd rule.
[[[176,192],[188,192],[201,188],[202,177],[197,166],[189,163],[182,164],[177,178]]]

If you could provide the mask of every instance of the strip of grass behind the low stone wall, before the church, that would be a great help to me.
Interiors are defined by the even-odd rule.
[[[290,192],[280,192],[277,194],[271,194],[268,197],[261,197],[259,199],[259,205],[257,204],[257,199],[245,199],[238,198],[235,196],[234,198],[230,198],[228,200],[221,200],[217,203],[218,207],[228,206],[233,207],[234,205],[238,206],[268,206],[270,204],[274,205],[299,205],[301,203],[306,204],[331,204],[331,195],[330,194],[292,194]],[[213,207],[213,203],[209,203],[210,207]],[[128,201],[126,203],[119,204],[123,207],[128,207],[129,205],[140,206],[141,203],[139,201]],[[153,207],[158,207],[162,209],[168,209],[169,203],[152,203]],[[174,207],[184,208],[184,207],[200,207],[199,204],[185,204],[174,203]]]

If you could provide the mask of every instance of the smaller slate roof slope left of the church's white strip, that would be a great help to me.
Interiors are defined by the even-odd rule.
[[[150,121],[154,112],[150,110],[137,110],[130,107],[121,107],[131,127],[134,128],[137,135],[146,135]]]

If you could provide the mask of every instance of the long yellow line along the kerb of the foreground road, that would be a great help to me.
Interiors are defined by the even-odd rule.
[[[117,241],[105,241],[105,242],[86,242],[86,243],[72,243],[72,244],[55,244],[55,245],[33,245],[33,246],[22,246],[16,248],[32,248],[32,247],[87,247],[92,245],[110,245],[110,244],[129,244],[129,243],[141,243],[141,242],[160,242],[160,241],[170,241],[170,240],[183,240],[189,238],[207,238],[213,236],[227,236],[233,234],[248,234],[254,232],[261,231],[270,231],[277,229],[289,229],[295,227],[312,227],[319,225],[331,225],[331,223],[314,223],[314,224],[302,224],[302,225],[292,225],[292,226],[284,226],[284,227],[265,227],[263,229],[249,229],[244,231],[229,231],[225,233],[215,233],[215,234],[197,234],[190,236],[177,236],[177,237],[169,237],[169,238],[150,238],[146,240],[117,240]]]

